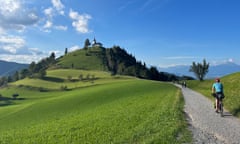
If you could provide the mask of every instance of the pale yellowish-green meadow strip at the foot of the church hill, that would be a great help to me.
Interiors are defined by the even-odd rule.
[[[80,79],[80,75],[82,78]],[[119,76],[111,76],[108,72],[102,71],[86,71],[76,69],[56,69],[48,70],[47,76],[44,79],[26,78],[16,81],[11,85],[14,86],[28,86],[37,88],[38,90],[62,90],[75,89],[79,87],[86,87],[98,85],[108,82],[113,82],[113,79],[118,79]],[[121,76],[121,79],[132,79],[128,76]],[[120,80],[121,80],[120,79]]]

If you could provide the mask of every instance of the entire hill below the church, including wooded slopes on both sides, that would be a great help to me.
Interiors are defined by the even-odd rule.
[[[52,53],[49,57],[32,62],[19,73],[18,77],[11,75],[10,81],[25,77],[44,77],[47,69],[81,69],[111,72],[112,75],[128,75],[142,79],[158,81],[175,81],[178,79],[188,79],[188,77],[176,76],[172,73],[159,72],[154,66],[147,67],[144,62],[136,60],[134,56],[119,46],[104,48],[101,46],[91,46],[65,53],[65,55],[55,58]],[[5,84],[7,77],[2,78]]]

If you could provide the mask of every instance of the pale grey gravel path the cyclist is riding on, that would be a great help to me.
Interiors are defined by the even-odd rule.
[[[182,88],[182,93],[194,144],[240,144],[239,119],[226,110],[221,117],[215,113],[213,102],[191,89]]]

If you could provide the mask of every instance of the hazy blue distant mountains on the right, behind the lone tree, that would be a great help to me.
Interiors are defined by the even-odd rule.
[[[190,65],[181,65],[181,66],[172,66],[167,68],[159,68],[158,70],[161,72],[168,72],[178,76],[191,76],[195,77],[192,72],[189,72]],[[209,71],[205,78],[215,78],[222,77],[231,73],[240,72],[240,65],[228,62],[219,65],[210,65]]]

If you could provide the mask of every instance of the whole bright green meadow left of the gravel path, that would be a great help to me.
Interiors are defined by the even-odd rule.
[[[181,90],[169,83],[58,69],[0,94],[1,144],[191,142]]]

